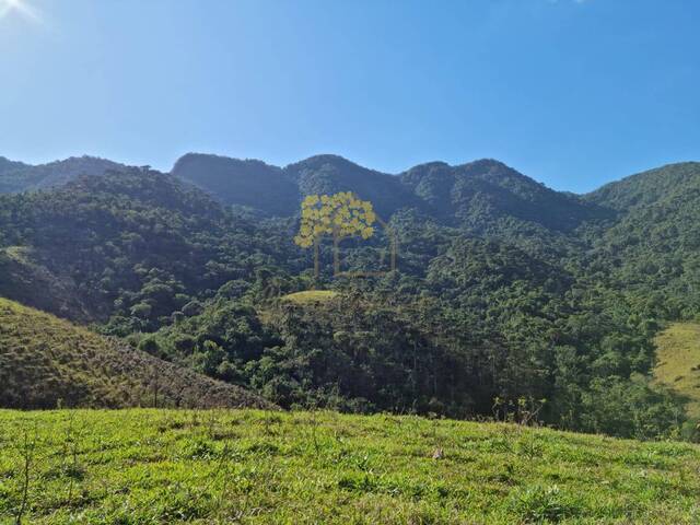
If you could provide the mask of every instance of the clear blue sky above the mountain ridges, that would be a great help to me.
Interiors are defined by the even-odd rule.
[[[188,151],[557,189],[700,160],[697,0],[0,0],[0,155]]]

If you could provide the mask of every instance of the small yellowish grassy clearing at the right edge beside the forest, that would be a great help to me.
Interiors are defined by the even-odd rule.
[[[700,325],[677,323],[656,338],[657,381],[688,398],[688,416],[700,419]]]

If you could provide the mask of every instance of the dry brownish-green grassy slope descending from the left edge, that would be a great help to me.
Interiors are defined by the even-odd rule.
[[[257,396],[0,299],[0,406],[266,407]]]

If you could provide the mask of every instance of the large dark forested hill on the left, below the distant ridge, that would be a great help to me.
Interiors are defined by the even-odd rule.
[[[73,320],[129,316],[131,330],[149,330],[202,291],[289,254],[280,236],[159,172],[80,177],[0,196],[0,293]]]

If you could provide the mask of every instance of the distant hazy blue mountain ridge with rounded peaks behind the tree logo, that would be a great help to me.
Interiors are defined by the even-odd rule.
[[[260,161],[188,153],[172,173],[225,203],[273,215],[295,213],[305,195],[350,190],[371,200],[386,219],[398,210],[415,209],[445,224],[479,229],[510,218],[567,231],[606,217],[604,209],[492,160],[459,166],[435,162],[389,175],[338,155],[316,155],[280,168]]]

